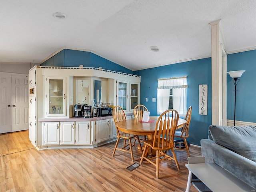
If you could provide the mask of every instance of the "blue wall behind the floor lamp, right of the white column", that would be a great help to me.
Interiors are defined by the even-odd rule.
[[[256,50],[229,54],[227,71],[246,70],[236,86],[236,120],[256,123]],[[227,119],[234,120],[234,83],[227,74]]]

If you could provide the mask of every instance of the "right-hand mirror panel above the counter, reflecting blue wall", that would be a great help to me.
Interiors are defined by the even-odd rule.
[[[95,104],[107,102],[107,80],[106,79],[94,79],[93,80],[93,95]]]

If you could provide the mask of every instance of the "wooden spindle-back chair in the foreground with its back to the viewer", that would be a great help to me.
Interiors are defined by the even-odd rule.
[[[156,166],[156,178],[159,178],[159,164],[162,160],[174,160],[178,170],[180,166],[174,152],[174,132],[176,130],[179,120],[179,114],[176,110],[170,109],[163,112],[156,122],[156,128],[154,132],[153,140],[144,141],[144,150],[140,160],[142,164],[143,160],[147,160],[151,164]],[[156,150],[156,156],[146,157],[145,154],[148,154],[148,150],[152,148]],[[171,150],[172,156],[168,155],[168,150]]]

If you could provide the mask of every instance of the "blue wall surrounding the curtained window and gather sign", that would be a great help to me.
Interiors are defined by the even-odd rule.
[[[140,101],[156,116],[156,103],[152,98],[157,98],[158,78],[187,76],[187,108],[192,106],[192,118],[189,128],[188,141],[199,145],[200,140],[208,138],[208,127],[212,123],[212,67],[211,58],[160,66],[145,70],[135,71],[141,76]],[[199,115],[199,85],[208,84],[208,114]],[[146,102],[148,98],[148,102]]]

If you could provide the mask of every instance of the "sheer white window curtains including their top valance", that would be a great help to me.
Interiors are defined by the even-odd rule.
[[[187,112],[187,76],[158,79],[157,88],[157,114],[162,114],[169,107],[170,89],[172,89],[173,109],[177,110],[180,117],[185,117]]]

